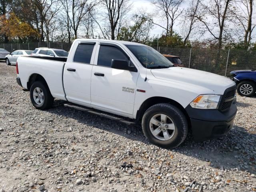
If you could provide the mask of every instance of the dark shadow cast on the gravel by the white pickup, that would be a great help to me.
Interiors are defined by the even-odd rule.
[[[64,103],[67,102],[55,100],[54,108],[48,110],[48,112],[75,119],[81,124],[94,126],[100,130],[112,132],[130,140],[152,145],[145,138],[140,125],[128,126],[107,118],[99,118],[99,116],[96,115],[66,108],[63,106]],[[104,120],[104,123],[99,120]],[[127,134],[128,130],[131,131],[131,134]],[[251,174],[255,174],[255,149],[256,134],[249,133],[245,128],[234,125],[230,132],[222,138],[195,142],[190,133],[180,146],[174,150],[166,150],[196,158],[200,160],[204,166],[227,170],[246,170]]]

